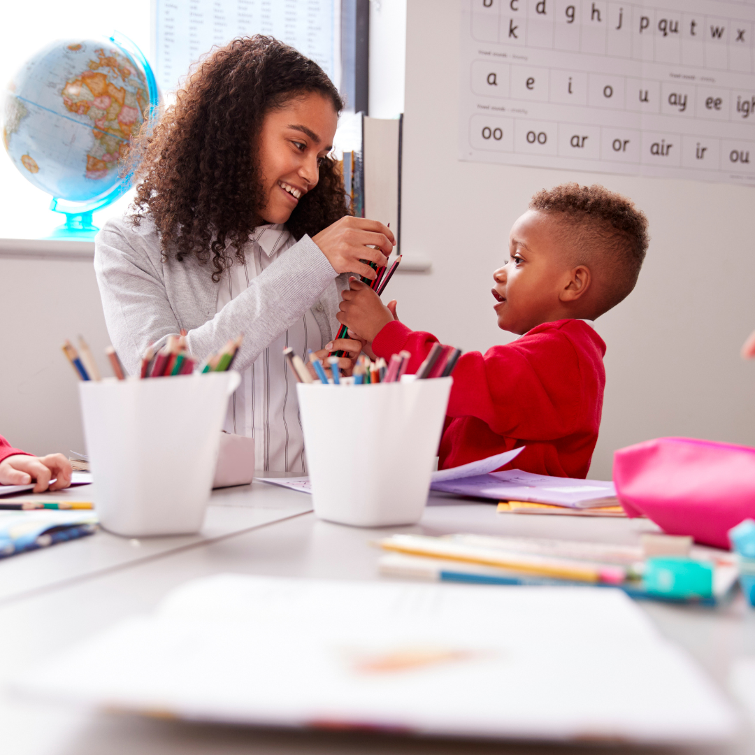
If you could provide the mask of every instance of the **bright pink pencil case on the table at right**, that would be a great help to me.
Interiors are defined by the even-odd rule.
[[[656,438],[616,451],[613,479],[627,516],[698,543],[729,550],[726,533],[755,518],[755,448]]]

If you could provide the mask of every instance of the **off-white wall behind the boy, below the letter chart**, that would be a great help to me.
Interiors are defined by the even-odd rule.
[[[597,321],[607,387],[590,476],[662,435],[755,445],[755,363],[738,357],[755,328],[755,191],[460,162],[459,18],[458,0],[408,0],[402,251],[433,270],[393,279],[399,315],[464,350],[509,341],[490,288],[511,224],[544,186],[603,183],[643,208],[652,243],[633,294]]]

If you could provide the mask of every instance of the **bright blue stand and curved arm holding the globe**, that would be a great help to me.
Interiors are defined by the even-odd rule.
[[[147,120],[151,122],[157,114],[160,103],[160,93],[152,67],[137,45],[134,45],[134,42],[131,42],[125,35],[115,32],[109,39],[126,57],[136,60],[141,66],[149,93]],[[131,188],[132,180],[134,180],[134,168],[125,174],[116,186],[113,186],[112,190],[91,199],[89,202],[67,202],[65,199],[54,198],[50,203],[50,209],[64,214],[66,222],[58,226],[48,238],[68,239],[69,241],[91,241],[94,239],[95,234],[100,229],[94,225],[92,213],[107,207],[116,199],[120,199]]]

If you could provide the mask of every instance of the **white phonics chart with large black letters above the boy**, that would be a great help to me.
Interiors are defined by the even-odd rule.
[[[753,27],[753,0],[463,0],[461,159],[755,184]]]

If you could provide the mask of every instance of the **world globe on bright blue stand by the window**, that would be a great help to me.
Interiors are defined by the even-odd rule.
[[[152,69],[125,37],[53,42],[21,66],[5,93],[3,143],[66,214],[55,235],[97,230],[91,214],[128,190],[122,157],[158,103]]]

